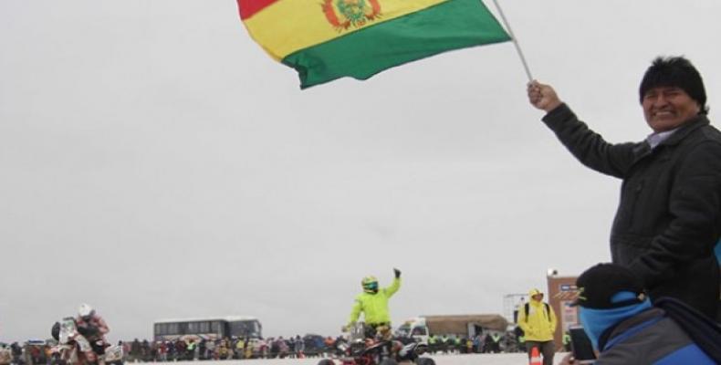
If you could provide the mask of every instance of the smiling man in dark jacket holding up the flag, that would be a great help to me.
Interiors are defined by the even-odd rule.
[[[675,297],[710,318],[719,306],[721,132],[706,118],[704,82],[684,57],[658,57],[639,88],[644,141],[613,144],[590,130],[549,85],[528,99],[584,165],[622,179],[611,260],[642,279],[653,301]],[[719,318],[721,319],[721,318]]]

